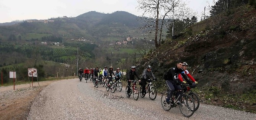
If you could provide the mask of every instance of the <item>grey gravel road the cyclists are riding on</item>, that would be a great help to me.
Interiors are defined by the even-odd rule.
[[[178,107],[164,111],[160,95],[152,101],[148,94],[138,101],[122,92],[107,92],[95,88],[91,81],[66,79],[45,87],[34,99],[28,120],[255,120],[256,114],[217,106],[200,104],[190,118],[184,117]]]

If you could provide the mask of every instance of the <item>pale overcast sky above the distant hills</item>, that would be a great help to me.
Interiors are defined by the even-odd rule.
[[[213,5],[214,0],[183,1],[200,14],[205,6],[207,11],[207,5]],[[62,16],[76,17],[89,11],[101,13],[126,11],[141,16],[142,12],[138,11],[136,6],[137,0],[0,0],[0,23]]]

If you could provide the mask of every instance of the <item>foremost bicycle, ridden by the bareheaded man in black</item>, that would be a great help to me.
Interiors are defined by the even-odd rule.
[[[194,114],[194,110],[195,110],[194,99],[190,95],[185,94],[184,92],[181,95],[179,95],[177,99],[175,99],[175,95],[177,93],[177,91],[175,91],[175,92],[173,92],[173,95],[170,98],[170,104],[168,104],[165,101],[165,99],[168,95],[169,90],[170,89],[168,89],[166,92],[162,93],[162,96],[161,96],[161,105],[162,105],[163,109],[165,111],[169,111],[172,107],[179,106],[180,112],[183,116],[191,117]]]

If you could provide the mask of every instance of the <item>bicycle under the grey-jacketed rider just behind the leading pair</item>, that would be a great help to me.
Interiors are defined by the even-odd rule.
[[[157,89],[152,84],[152,80],[149,79],[149,81],[150,82],[147,84],[146,93],[149,93],[149,98],[151,100],[154,100],[156,99],[156,96],[157,96]],[[139,88],[139,95],[141,96],[141,98],[144,98],[146,95],[142,93],[142,86]]]

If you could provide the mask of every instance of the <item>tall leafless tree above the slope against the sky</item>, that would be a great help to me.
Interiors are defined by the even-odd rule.
[[[172,13],[174,6],[180,1],[181,0],[137,0],[137,8],[144,12],[142,16],[149,16],[147,25],[143,28],[150,28],[149,32],[155,33],[154,43],[156,48],[161,44],[162,28],[166,19],[170,19],[170,13]],[[146,17],[141,18],[145,19]]]

